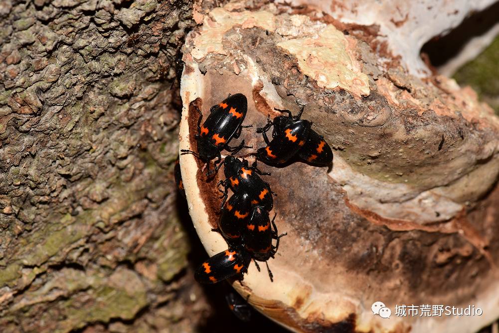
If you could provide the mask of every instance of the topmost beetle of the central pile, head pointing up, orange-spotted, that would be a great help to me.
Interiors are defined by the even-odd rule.
[[[259,175],[270,175],[268,172],[262,172],[256,167],[256,161],[249,166],[248,160],[240,161],[234,156],[228,156],[224,160],[225,180],[220,180],[218,185],[224,185],[224,199],[222,207],[228,197],[227,189],[230,187],[234,193],[248,193],[251,204],[261,204],[266,210],[273,207],[272,195],[276,195],[270,189],[270,185],[263,181]],[[259,175],[258,175],[259,174]]]

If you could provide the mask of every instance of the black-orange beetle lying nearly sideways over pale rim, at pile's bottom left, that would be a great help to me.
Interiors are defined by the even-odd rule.
[[[248,271],[251,256],[241,246],[229,247],[202,263],[194,273],[199,283],[217,283]]]

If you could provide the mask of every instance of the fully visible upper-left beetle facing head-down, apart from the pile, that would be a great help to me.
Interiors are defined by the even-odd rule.
[[[248,111],[248,100],[243,94],[229,95],[225,100],[210,108],[210,115],[206,118],[203,125],[203,114],[199,108],[196,108],[199,113],[198,133],[195,138],[198,144],[198,153],[183,149],[184,154],[193,154],[208,165],[207,175],[218,171],[222,166],[222,156],[220,154],[224,149],[231,152],[233,155],[243,148],[251,148],[245,146],[243,140],[237,147],[230,147],[231,139],[239,138],[243,128],[252,127],[252,125],[243,126],[243,121]],[[214,170],[210,171],[210,161],[217,158],[214,163]],[[218,166],[217,166],[218,164]]]

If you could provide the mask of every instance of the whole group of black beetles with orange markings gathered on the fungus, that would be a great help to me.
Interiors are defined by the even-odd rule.
[[[265,262],[270,280],[272,273],[267,260],[273,258],[279,239],[286,233],[278,235],[274,223],[276,214],[270,220],[269,211],[273,207],[270,189],[260,175],[270,175],[260,171],[256,163],[260,161],[269,166],[286,166],[294,161],[301,161],[313,166],[330,166],[333,153],[324,138],[312,128],[312,123],[301,119],[303,108],[293,116],[288,110],[278,110],[283,115],[270,120],[256,129],[261,133],[266,146],[256,152],[236,158],[235,155],[245,146],[243,140],[239,146],[230,147],[233,138],[239,138],[243,128],[248,101],[243,94],[229,95],[221,103],[210,109],[210,114],[203,124],[203,114],[198,109],[198,133],[196,134],[197,152],[182,150],[182,154],[193,154],[207,164],[207,175],[218,172],[224,166],[225,179],[217,184],[223,193],[221,216],[218,228],[228,243],[228,249],[205,261],[195,272],[195,279],[200,283],[217,283],[219,281],[242,276],[246,273],[251,259],[260,270],[257,261]],[[272,130],[269,140],[267,132]],[[231,155],[222,159],[221,152],[227,150]],[[249,165],[246,157],[253,156],[254,163]],[[210,162],[215,160],[210,170]],[[180,175],[180,166],[175,167],[177,186],[184,190]],[[221,189],[221,186],[223,189]],[[229,188],[233,194],[229,198]],[[185,193],[184,193],[185,195]],[[275,240],[275,245],[273,245]]]

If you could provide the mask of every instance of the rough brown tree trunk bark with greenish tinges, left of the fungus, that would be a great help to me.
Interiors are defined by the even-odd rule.
[[[206,254],[173,180],[180,51],[214,6],[0,3],[2,332],[238,325],[194,282]],[[256,318],[243,332],[280,330]]]

